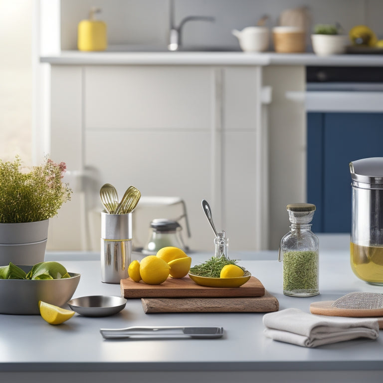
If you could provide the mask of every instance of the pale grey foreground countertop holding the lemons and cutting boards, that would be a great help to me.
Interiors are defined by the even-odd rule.
[[[211,256],[191,253],[192,265]],[[320,250],[320,291],[311,298],[282,294],[282,263],[276,251],[231,253],[277,297],[280,310],[306,312],[311,302],[334,300],[351,291],[382,292],[354,276],[347,246]],[[100,281],[95,253],[50,253],[81,273],[73,297],[120,295],[120,286]],[[52,326],[40,316],[0,315],[0,379],[3,382],[381,382],[383,337],[358,339],[316,349],[281,343],[263,335],[262,313],[145,314],[139,299],[128,300],[119,314],[87,318],[78,314]],[[222,326],[212,340],[104,340],[100,328],[150,325]],[[382,333],[381,333],[382,334]]]

